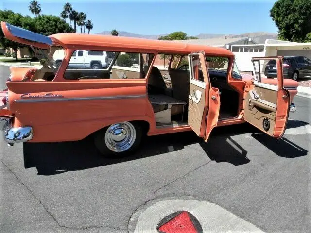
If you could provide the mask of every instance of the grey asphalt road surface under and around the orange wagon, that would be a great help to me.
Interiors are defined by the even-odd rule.
[[[148,201],[185,196],[264,232],[311,232],[311,99],[294,103],[279,141],[245,124],[215,129],[208,143],[194,133],[147,137],[131,157],[107,160],[90,138],[1,140],[0,232],[127,232]]]

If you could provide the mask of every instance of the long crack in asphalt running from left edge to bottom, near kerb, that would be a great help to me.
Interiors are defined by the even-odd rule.
[[[96,226],[96,225],[91,225],[91,226],[86,226],[86,227],[67,227],[65,225],[61,225],[57,219],[55,218],[55,216],[53,216],[53,214],[47,209],[47,207],[42,203],[41,200],[39,200],[35,194],[33,193],[33,191],[30,190],[30,188],[24,184],[18,177],[17,175],[11,170],[11,168],[9,166],[7,166],[1,159],[0,159],[1,163],[14,175],[14,177],[17,179],[17,181],[19,183],[21,183],[27,190],[28,192],[35,198],[35,200],[37,200],[40,205],[42,205],[43,209],[48,213],[48,215],[50,215],[53,220],[57,223],[57,225],[61,228],[67,228],[67,229],[72,229],[72,230],[86,230],[86,229],[89,229],[89,228],[102,228],[102,227],[107,227],[109,229],[113,229],[113,230],[117,230],[117,231],[126,231],[127,229],[120,229],[120,228],[114,228],[114,227],[110,227],[110,226],[107,226],[107,225],[101,225],[101,226]]]

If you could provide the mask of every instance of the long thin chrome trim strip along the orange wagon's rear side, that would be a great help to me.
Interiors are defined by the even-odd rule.
[[[60,101],[78,101],[78,100],[114,100],[114,99],[132,99],[143,98],[146,95],[131,95],[131,96],[99,96],[99,97],[74,97],[74,98],[42,98],[42,99],[19,99],[14,100],[17,103],[35,103],[35,102],[60,102]]]

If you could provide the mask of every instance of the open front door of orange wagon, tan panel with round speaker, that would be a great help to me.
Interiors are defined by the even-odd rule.
[[[254,85],[245,95],[244,118],[264,133],[281,138],[285,132],[289,109],[290,95],[283,87],[282,57],[254,57]],[[276,64],[274,72],[277,82],[267,79],[269,64]],[[270,67],[269,67],[270,69]]]

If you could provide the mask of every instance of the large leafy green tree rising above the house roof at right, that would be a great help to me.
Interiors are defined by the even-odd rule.
[[[278,0],[270,16],[281,40],[304,42],[311,33],[311,0]]]

